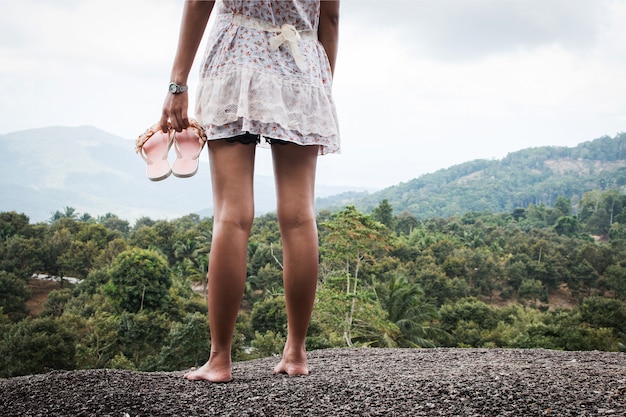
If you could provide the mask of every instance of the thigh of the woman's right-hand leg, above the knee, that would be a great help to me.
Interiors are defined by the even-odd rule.
[[[318,146],[276,144],[272,146],[278,217],[315,217],[315,171]]]

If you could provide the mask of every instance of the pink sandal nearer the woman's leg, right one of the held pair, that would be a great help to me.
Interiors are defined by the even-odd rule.
[[[172,174],[179,178],[189,178],[198,172],[198,158],[206,143],[206,133],[200,124],[189,119],[189,127],[181,132],[173,131],[176,160],[172,165]]]

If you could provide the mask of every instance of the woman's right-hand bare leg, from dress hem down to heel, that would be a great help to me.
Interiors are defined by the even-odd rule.
[[[305,339],[315,301],[318,271],[315,222],[317,146],[272,146],[278,222],[283,241],[283,282],[288,334],[276,373],[307,375]]]

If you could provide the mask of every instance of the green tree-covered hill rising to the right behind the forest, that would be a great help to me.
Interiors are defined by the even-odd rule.
[[[585,192],[605,189],[626,192],[626,133],[571,148],[529,148],[501,160],[474,160],[373,194],[320,199],[318,207],[333,210],[350,204],[367,213],[387,199],[395,213],[445,218],[511,212],[529,204],[552,206],[558,196],[575,205]]]

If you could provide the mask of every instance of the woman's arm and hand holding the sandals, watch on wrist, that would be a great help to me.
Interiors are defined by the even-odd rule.
[[[215,1],[187,0],[183,10],[183,18],[178,36],[178,48],[174,57],[170,81],[179,85],[187,85],[187,77],[193,65],[200,41],[206,28]],[[161,130],[167,132],[168,120],[172,127],[181,131],[189,126],[187,107],[189,93],[167,93],[161,115]]]

